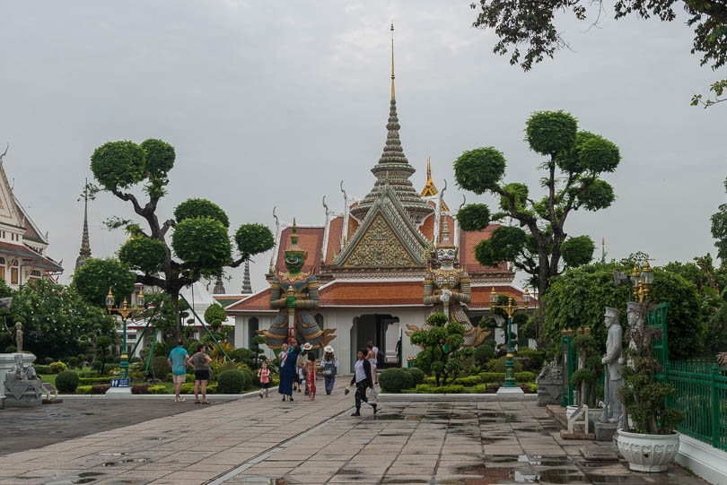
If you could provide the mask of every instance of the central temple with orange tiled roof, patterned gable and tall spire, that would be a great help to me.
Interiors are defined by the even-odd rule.
[[[302,273],[315,274],[320,306],[313,310],[321,330],[336,329],[330,342],[341,367],[353,368],[355,353],[374,342],[391,365],[406,366],[407,358],[419,349],[407,337],[407,328],[420,327],[431,312],[424,303],[425,276],[431,263],[435,241],[442,230],[451,233],[459,249],[456,266],[469,273],[471,301],[467,305],[469,320],[477,325],[481,316],[489,315],[489,294],[521,300],[522,290],[513,285],[515,274],[502,263],[483,267],[475,258],[477,243],[489,238],[498,226],[486,230],[460,230],[456,211],[443,200],[432,178],[427,160],[427,181],[416,190],[410,178],[415,173],[399,138],[399,116],[394,91],[393,40],[391,99],[387,136],[378,162],[372,167],[372,189],[363,199],[343,193],[343,209],[334,212],[325,198],[325,218],[320,224],[297,224],[297,246],[307,252]],[[363,175],[363,174],[362,174]],[[274,212],[275,215],[275,212]],[[295,215],[288,214],[290,219]],[[267,280],[285,273],[285,248],[289,246],[293,224],[276,217],[276,246],[270,261]],[[443,229],[445,228],[445,229]],[[235,345],[248,347],[256,332],[269,328],[278,315],[271,304],[270,287],[244,296],[226,307],[235,318]],[[490,337],[492,338],[492,337]],[[502,342],[502,336],[498,338]],[[272,351],[268,351],[272,356]]]

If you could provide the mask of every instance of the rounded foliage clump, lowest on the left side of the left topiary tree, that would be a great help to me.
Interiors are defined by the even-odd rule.
[[[130,298],[135,281],[127,264],[119,262],[118,259],[90,258],[75,270],[72,285],[88,303],[106,307],[109,288],[118,304],[125,298]]]

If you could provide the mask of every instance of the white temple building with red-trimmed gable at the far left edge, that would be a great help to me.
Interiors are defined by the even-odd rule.
[[[13,289],[33,280],[57,282],[63,267],[47,255],[48,233],[13,194],[5,175],[6,153],[0,154],[0,279]]]

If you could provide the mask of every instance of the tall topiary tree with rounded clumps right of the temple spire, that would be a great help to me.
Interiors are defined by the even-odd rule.
[[[530,275],[541,296],[565,267],[591,261],[595,245],[588,236],[568,238],[565,221],[578,210],[598,211],[615,195],[603,174],[618,167],[618,147],[598,134],[578,131],[578,122],[563,111],[539,111],[526,123],[526,139],[533,152],[545,157],[539,164],[545,195],[536,196],[519,182],[503,182],[506,161],[494,147],[464,152],[454,162],[457,184],[477,195],[499,198],[498,211],[486,204],[470,204],[457,215],[463,230],[484,230],[492,221],[512,219],[475,248],[479,264],[497,266],[509,261]],[[541,304],[542,306],[542,304]],[[539,322],[542,325],[542,317]]]

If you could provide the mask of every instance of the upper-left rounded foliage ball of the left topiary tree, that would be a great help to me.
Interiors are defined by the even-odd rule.
[[[109,191],[133,186],[144,179],[145,156],[134,142],[104,143],[91,156],[93,177]]]

